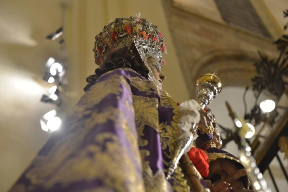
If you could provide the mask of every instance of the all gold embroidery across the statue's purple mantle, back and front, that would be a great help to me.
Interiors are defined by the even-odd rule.
[[[124,70],[133,71],[131,69]],[[112,72],[113,71],[110,71],[105,74]],[[103,76],[105,74],[103,74]],[[93,109],[96,104],[99,104],[110,94],[114,94],[119,102],[119,98],[123,94],[123,88],[127,88],[128,91],[130,91],[130,85],[126,79],[131,79],[132,77],[123,77],[118,74],[112,75],[111,77],[112,78],[104,81],[98,81],[93,85],[90,90],[84,94],[77,106],[74,107],[73,113],[68,117],[69,125],[67,126],[67,130],[73,130],[73,132],[69,132],[58,140],[47,155],[38,155],[33,161],[32,167],[26,174],[26,178],[31,181],[31,186],[29,186],[31,190],[33,190],[36,185],[41,185],[49,190],[55,184],[65,187],[73,182],[91,182],[95,179],[101,179],[106,187],[102,186],[87,189],[86,192],[169,191],[171,186],[165,178],[164,171],[166,170],[158,170],[156,174],[153,174],[149,162],[145,162],[144,160],[144,158],[149,155],[149,151],[139,151],[137,138],[139,146],[147,145],[145,141],[141,141],[139,138],[141,134],[143,134],[144,126],[150,126],[159,132],[162,143],[161,147],[162,149],[169,148],[169,154],[165,155],[171,158],[179,134],[177,128],[177,119],[179,117],[178,106],[172,98],[163,91],[161,93],[161,105],[163,107],[173,108],[174,116],[171,125],[168,125],[167,122],[162,122],[159,125],[158,98],[132,96],[133,106],[135,108],[137,137],[135,130],[131,130],[134,126],[131,127],[128,125],[128,122],[131,122],[133,118],[133,116],[127,117],[128,112],[125,114],[126,111],[120,111],[118,108],[113,107],[105,107],[104,109],[98,109],[98,111]],[[101,78],[104,77],[101,76],[100,79]],[[139,79],[141,78],[139,77]],[[143,86],[147,86],[147,82],[144,81]],[[143,88],[142,90],[145,89],[146,88]],[[129,108],[131,104],[128,99],[123,100],[122,104],[133,111],[132,107]],[[84,143],[84,140],[90,134],[91,130],[93,130],[96,125],[103,124],[108,120],[113,121],[116,128],[123,128],[123,133],[130,147],[123,147],[119,137],[112,132],[104,132],[96,134],[93,138],[94,143],[83,146],[83,148],[80,149],[81,144]],[[105,148],[105,150],[103,150],[103,148]],[[132,153],[133,155],[130,155]],[[101,159],[100,163],[98,159]],[[135,161],[137,163],[135,163]],[[163,163],[168,164],[168,162]],[[139,170],[141,164],[143,175],[136,171]],[[187,185],[187,181],[183,176],[181,168],[178,167],[172,177],[174,180],[174,191],[190,191],[190,187]],[[25,187],[22,189],[22,186],[19,185],[18,190],[21,192],[26,191]]]

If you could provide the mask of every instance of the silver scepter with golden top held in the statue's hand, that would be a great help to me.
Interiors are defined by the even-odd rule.
[[[196,100],[200,104],[201,109],[204,109],[211,101],[216,98],[217,94],[221,92],[222,83],[215,74],[207,73],[202,75],[196,81]],[[197,133],[196,123],[193,123],[190,130],[193,134],[190,136],[183,136],[178,140],[174,156],[170,161],[166,179],[170,179],[171,175],[177,168],[177,164],[183,154],[189,149],[192,144],[194,134]]]

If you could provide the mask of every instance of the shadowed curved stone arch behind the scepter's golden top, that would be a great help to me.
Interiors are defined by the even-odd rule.
[[[195,97],[198,77],[205,73],[218,73],[223,86],[246,86],[256,74],[253,63],[258,59],[256,53],[240,49],[227,49],[208,52],[191,68],[192,87],[190,96]]]

